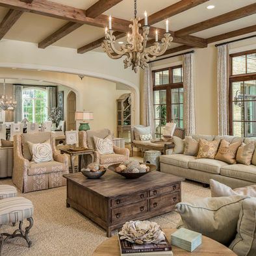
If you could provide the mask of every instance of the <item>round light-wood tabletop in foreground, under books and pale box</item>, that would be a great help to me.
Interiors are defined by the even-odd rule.
[[[170,242],[171,234],[175,232],[177,229],[163,229],[168,241]],[[229,248],[225,247],[223,244],[212,240],[209,237],[202,236],[202,244],[198,246],[196,250],[192,253],[190,251],[185,251],[176,246],[172,246],[173,255],[225,255],[225,256],[235,256],[236,254],[229,250]],[[93,256],[120,256],[120,247],[118,243],[118,237],[114,236],[108,238],[104,242],[102,242],[92,254]]]

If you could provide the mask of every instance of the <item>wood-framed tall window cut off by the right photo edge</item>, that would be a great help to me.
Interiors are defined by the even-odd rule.
[[[230,55],[229,127],[235,136],[256,136],[256,49]]]

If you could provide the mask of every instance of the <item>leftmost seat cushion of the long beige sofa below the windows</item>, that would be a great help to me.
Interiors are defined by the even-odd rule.
[[[188,169],[188,163],[192,160],[196,159],[196,157],[192,155],[161,155],[160,162],[164,164],[172,164],[175,166],[183,167]]]

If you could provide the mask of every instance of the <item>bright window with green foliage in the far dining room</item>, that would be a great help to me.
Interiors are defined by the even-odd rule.
[[[22,115],[29,122],[42,123],[47,120],[47,91],[37,88],[22,90]]]

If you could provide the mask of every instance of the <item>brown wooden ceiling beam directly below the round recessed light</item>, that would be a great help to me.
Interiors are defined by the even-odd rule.
[[[186,34],[193,34],[195,32],[203,31],[205,29],[210,29],[211,27],[216,27],[218,25],[222,25],[224,23],[234,21],[236,19],[244,18],[246,16],[250,16],[256,13],[256,3],[251,5],[244,6],[237,10],[233,10],[231,12],[227,12],[220,16],[216,16],[211,19],[207,19],[205,21],[201,21],[194,25],[185,27],[184,29],[179,29],[175,34],[177,36],[185,36]]]

